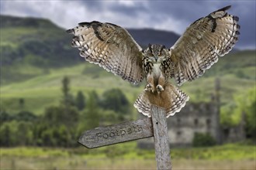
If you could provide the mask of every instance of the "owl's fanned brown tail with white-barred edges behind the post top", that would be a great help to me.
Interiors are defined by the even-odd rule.
[[[171,85],[171,83],[165,83],[164,91],[161,93],[151,93],[144,90],[140,93],[133,106],[137,110],[147,117],[151,117],[151,107],[156,105],[166,110],[166,117],[175,115],[182,107],[185,106],[185,102],[189,100],[189,96],[179,90],[177,87]]]

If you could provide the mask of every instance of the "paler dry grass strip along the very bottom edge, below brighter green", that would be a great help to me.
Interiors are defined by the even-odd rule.
[[[2,170],[7,169],[116,169],[116,170],[127,170],[127,169],[157,169],[156,162],[154,159],[137,160],[134,159],[101,159],[101,158],[80,158],[72,156],[70,158],[4,158],[2,164]],[[177,160],[172,161],[173,170],[193,170],[193,169],[204,169],[204,170],[254,170],[255,162],[253,160],[242,160],[242,161],[202,161],[202,160]]]

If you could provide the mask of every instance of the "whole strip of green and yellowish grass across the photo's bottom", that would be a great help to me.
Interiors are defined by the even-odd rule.
[[[171,148],[173,169],[255,169],[256,146],[229,144],[210,148]],[[126,150],[108,155],[109,150]],[[1,148],[1,169],[156,169],[154,150],[136,142],[86,148]]]

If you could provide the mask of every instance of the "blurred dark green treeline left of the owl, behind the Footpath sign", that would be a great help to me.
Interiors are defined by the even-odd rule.
[[[76,147],[83,131],[130,119],[129,101],[119,89],[106,90],[101,97],[95,91],[86,95],[78,91],[74,97],[65,76],[62,94],[60,104],[47,107],[40,116],[27,110],[17,114],[1,110],[0,145]]]

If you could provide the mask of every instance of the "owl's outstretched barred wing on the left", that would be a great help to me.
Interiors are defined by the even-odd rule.
[[[119,75],[130,83],[144,79],[142,49],[120,26],[102,22],[82,22],[74,29],[73,47],[90,63],[99,64],[105,70]]]

